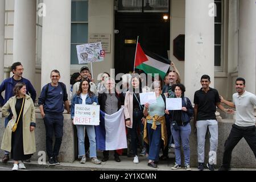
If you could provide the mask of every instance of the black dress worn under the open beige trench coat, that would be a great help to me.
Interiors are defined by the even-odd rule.
[[[19,117],[19,112],[22,107],[22,102],[23,102],[23,98],[17,98],[16,104],[15,104],[17,119]],[[24,101],[24,105],[25,105],[25,101]],[[24,106],[20,114],[16,131],[13,132],[11,135],[11,156],[13,160],[27,160],[31,158],[31,154],[24,155],[24,150],[23,150],[23,110],[24,110]]]

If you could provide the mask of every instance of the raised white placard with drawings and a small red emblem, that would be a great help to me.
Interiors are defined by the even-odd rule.
[[[105,51],[101,42],[77,45],[76,51],[79,64],[104,61]]]

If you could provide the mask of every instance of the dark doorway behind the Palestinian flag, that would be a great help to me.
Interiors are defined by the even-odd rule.
[[[162,13],[115,13],[115,73],[133,71],[137,40],[143,49],[168,58],[170,50],[170,20],[164,21]]]

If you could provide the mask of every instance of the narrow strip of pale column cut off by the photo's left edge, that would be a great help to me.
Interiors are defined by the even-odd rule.
[[[5,0],[0,0],[0,82],[3,81],[5,60]]]

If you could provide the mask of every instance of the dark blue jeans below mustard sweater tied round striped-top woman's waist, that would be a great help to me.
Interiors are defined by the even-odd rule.
[[[156,129],[151,129],[152,124],[147,123],[147,135],[149,143],[148,159],[158,161],[161,147],[161,125],[156,125]]]

